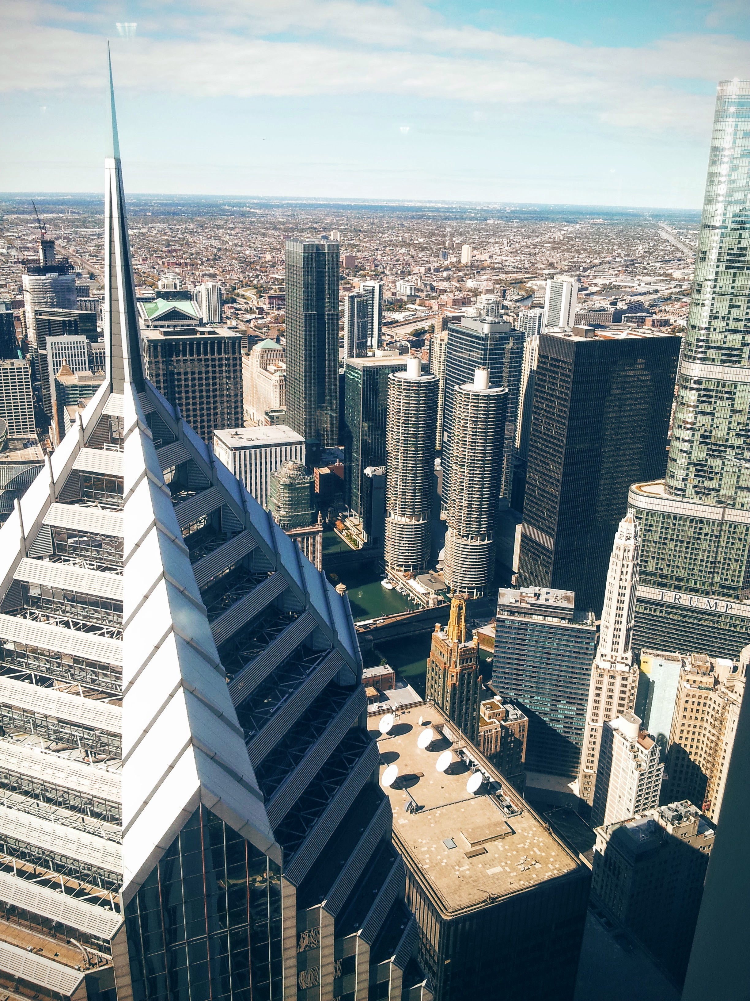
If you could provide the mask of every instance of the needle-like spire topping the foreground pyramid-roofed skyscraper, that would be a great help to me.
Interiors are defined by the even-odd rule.
[[[135,306],[109,46],[107,58],[111,111],[110,153],[104,161],[104,339],[107,345],[107,375],[113,392],[122,392],[125,382],[132,382],[136,391],[142,392],[141,335]]]

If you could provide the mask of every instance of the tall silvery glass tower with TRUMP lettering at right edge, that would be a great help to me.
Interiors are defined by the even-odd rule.
[[[736,657],[750,627],[750,81],[719,84],[666,480],[641,477],[634,649]]]

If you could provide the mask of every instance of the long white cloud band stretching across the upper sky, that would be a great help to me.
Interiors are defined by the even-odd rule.
[[[642,48],[576,46],[451,26],[420,3],[194,0],[150,8],[138,36],[115,42],[120,88],[194,97],[392,95],[575,109],[596,123],[705,137],[710,94],[686,77],[741,75],[750,44],[677,36]],[[0,91],[101,90],[108,11],[81,15],[35,0],[0,14]],[[83,29],[86,30],[83,30]],[[101,33],[100,33],[101,32]],[[163,33],[171,37],[161,37]],[[159,37],[154,37],[156,35]]]

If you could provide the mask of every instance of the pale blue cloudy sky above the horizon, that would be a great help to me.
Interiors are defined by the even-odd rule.
[[[118,27],[119,26],[119,27]],[[750,0],[2,0],[0,191],[698,208]]]

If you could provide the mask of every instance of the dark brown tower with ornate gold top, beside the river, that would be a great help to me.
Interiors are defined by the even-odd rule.
[[[478,743],[481,686],[479,640],[466,639],[466,600],[454,598],[448,625],[432,634],[425,691],[472,744]]]

